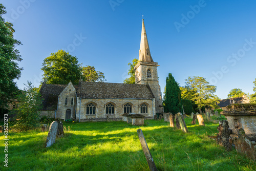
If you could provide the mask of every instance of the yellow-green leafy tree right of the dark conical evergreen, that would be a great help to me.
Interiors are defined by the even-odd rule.
[[[189,100],[193,100],[202,112],[203,106],[211,106],[212,108],[218,108],[219,103],[218,96],[214,95],[216,92],[216,86],[209,85],[203,77],[188,77],[185,79],[185,89],[189,92]]]

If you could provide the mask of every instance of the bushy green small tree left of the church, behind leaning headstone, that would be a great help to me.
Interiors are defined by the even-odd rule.
[[[24,91],[17,96],[19,107],[14,110],[16,116],[15,119],[11,121],[11,123],[14,124],[12,128],[18,131],[28,131],[38,126],[38,110],[40,110],[42,106],[40,93],[35,91],[32,83],[28,81],[28,84],[25,84],[25,86]]]

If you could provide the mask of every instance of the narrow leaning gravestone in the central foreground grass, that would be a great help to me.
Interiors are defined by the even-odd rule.
[[[144,155],[146,157],[148,167],[150,167],[151,171],[157,171],[157,167],[156,167],[153,157],[150,153],[150,149],[147,146],[147,143],[146,143],[145,137],[142,133],[142,130],[141,129],[137,130],[137,134],[139,136],[140,144],[143,149]]]

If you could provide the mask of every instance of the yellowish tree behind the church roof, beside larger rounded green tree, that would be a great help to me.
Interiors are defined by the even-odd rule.
[[[102,72],[96,71],[94,67],[86,66],[81,68],[83,81],[104,82],[105,76]]]

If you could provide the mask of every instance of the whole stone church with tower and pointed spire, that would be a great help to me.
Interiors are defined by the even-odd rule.
[[[163,113],[158,66],[151,56],[142,20],[139,62],[134,67],[135,84],[43,83],[40,89],[44,99],[41,115],[79,122],[122,120],[124,113],[142,114],[145,119],[153,119],[155,114]]]

